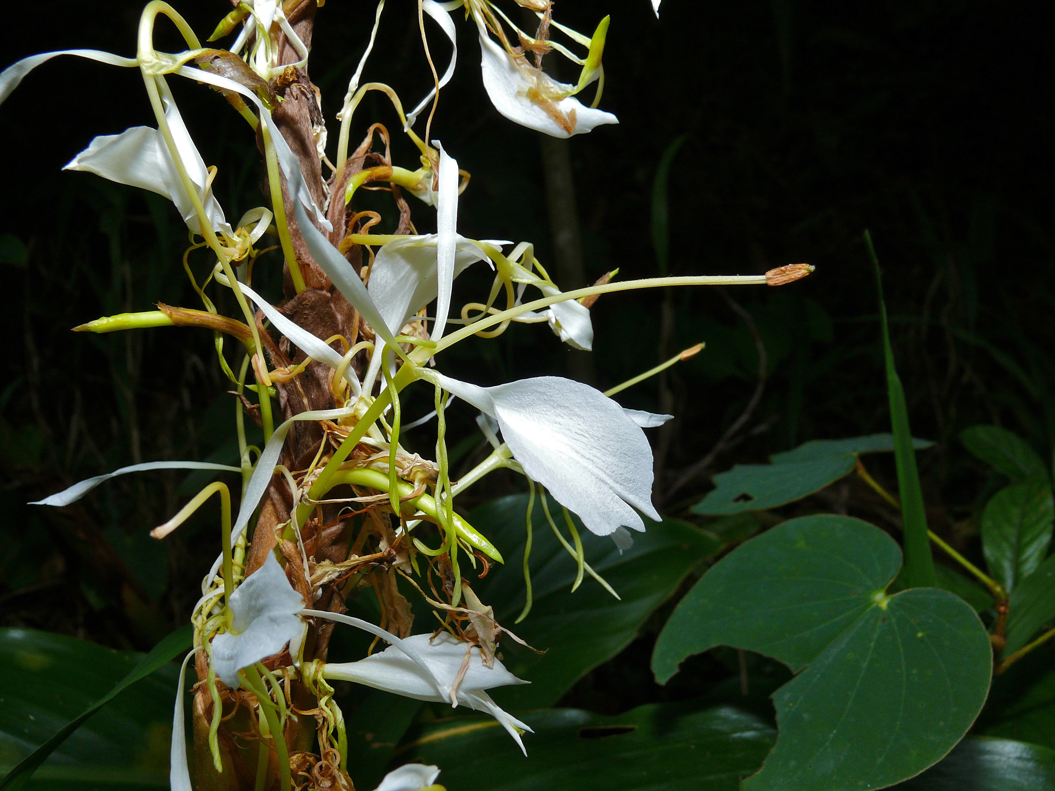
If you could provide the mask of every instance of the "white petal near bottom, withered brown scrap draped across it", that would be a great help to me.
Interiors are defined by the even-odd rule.
[[[426,673],[411,659],[403,647],[411,649],[420,659],[424,660],[429,672]],[[460,682],[456,684],[466,650],[472,652],[468,668]],[[404,638],[402,645],[390,645],[380,654],[373,654],[358,662],[330,662],[323,669],[323,675],[326,678],[354,681],[418,700],[449,702],[453,706],[461,703],[475,711],[485,711],[509,731],[524,751],[517,729],[531,731],[531,728],[502,711],[491,699],[486,690],[529,682],[514,676],[497,659],[494,667],[486,667],[479,648],[474,645],[469,649],[468,643],[458,640],[446,632],[440,633],[435,639],[429,635]],[[457,689],[455,700],[452,701],[450,691],[454,687]],[[526,755],[526,751],[524,754]]]

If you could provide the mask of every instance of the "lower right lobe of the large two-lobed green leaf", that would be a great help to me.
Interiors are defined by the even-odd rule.
[[[985,701],[989,635],[962,599],[874,606],[773,695],[780,736],[744,791],[882,788],[940,760]]]

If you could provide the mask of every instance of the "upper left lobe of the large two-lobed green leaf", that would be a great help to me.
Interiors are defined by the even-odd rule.
[[[678,603],[656,641],[666,683],[686,657],[715,645],[757,651],[799,671],[857,621],[898,573],[882,530],[820,515],[779,524],[716,563]]]

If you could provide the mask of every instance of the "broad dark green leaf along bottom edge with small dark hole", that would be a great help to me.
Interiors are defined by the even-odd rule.
[[[578,709],[519,716],[534,731],[524,734],[526,757],[494,719],[474,716],[423,728],[399,763],[436,764],[446,788],[474,791],[736,791],[773,744],[759,717],[693,701],[614,717]]]

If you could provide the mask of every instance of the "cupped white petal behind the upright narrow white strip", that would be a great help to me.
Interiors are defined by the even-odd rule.
[[[370,297],[385,326],[399,332],[407,321],[439,294],[437,281],[438,234],[392,239],[378,250],[370,268]],[[455,236],[454,276],[487,256],[476,243]]]

